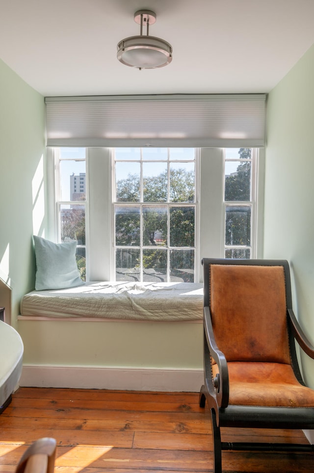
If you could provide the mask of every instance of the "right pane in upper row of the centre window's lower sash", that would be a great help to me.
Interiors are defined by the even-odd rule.
[[[194,207],[170,207],[170,246],[194,246],[194,222]]]

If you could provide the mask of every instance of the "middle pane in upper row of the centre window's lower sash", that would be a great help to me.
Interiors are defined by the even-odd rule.
[[[167,207],[143,207],[143,246],[167,244]]]

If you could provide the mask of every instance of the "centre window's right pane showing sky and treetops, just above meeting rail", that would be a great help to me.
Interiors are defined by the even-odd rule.
[[[170,166],[170,202],[194,202],[194,163],[172,163]]]

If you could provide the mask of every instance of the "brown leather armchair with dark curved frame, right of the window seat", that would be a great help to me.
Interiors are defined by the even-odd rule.
[[[292,311],[290,272],[282,260],[202,260],[204,385],[211,414],[214,473],[222,450],[314,451],[310,444],[224,443],[220,427],[314,429],[314,390],[306,387],[295,340],[314,347]]]

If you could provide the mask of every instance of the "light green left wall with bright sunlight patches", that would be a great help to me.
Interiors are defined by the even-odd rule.
[[[44,97],[0,60],[0,277],[12,288],[12,325],[34,286],[32,235],[45,230],[44,153]]]

